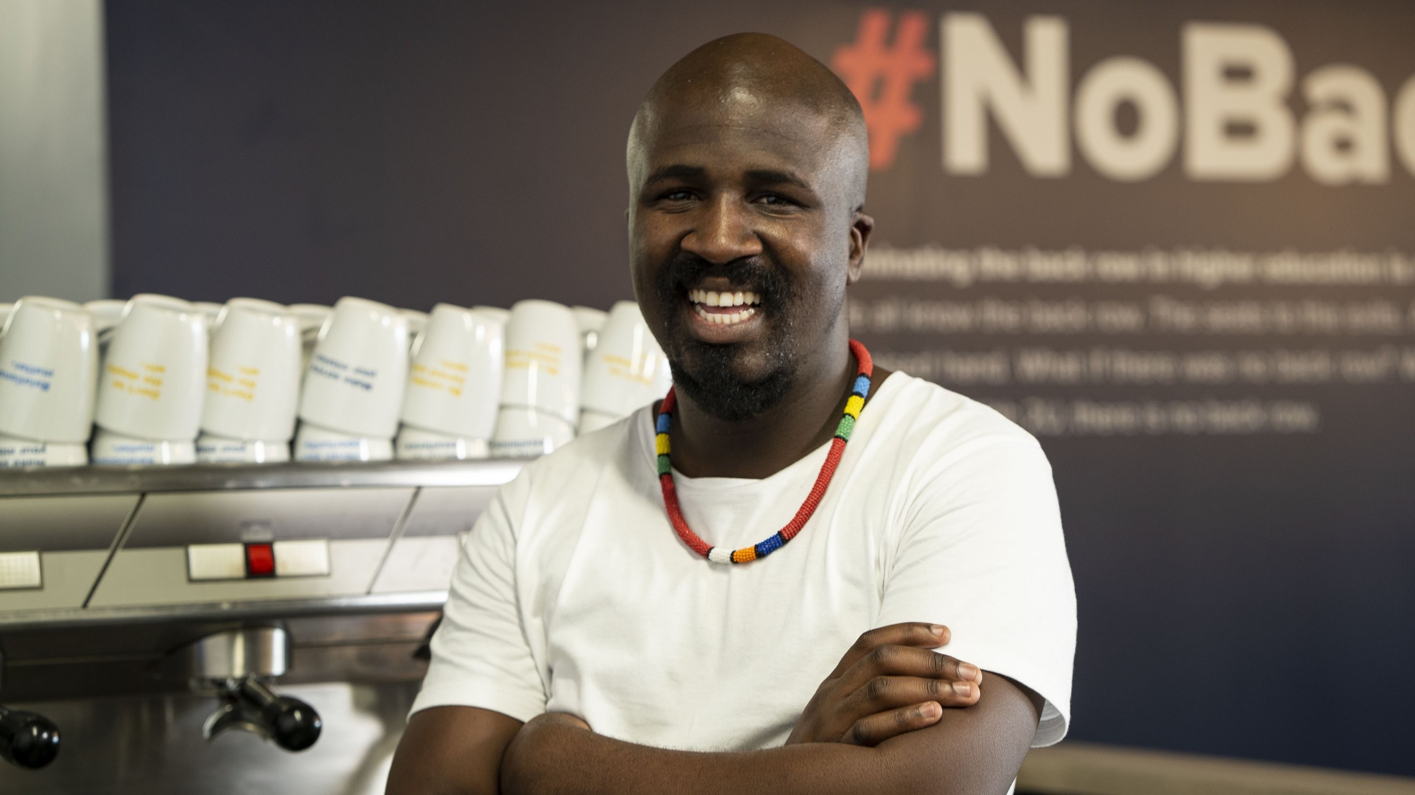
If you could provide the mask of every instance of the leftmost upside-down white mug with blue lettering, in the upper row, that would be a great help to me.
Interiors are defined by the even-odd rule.
[[[0,331],[0,434],[82,446],[93,424],[98,337],[72,301],[28,296]]]

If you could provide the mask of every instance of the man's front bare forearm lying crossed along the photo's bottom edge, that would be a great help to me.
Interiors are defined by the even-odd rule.
[[[990,709],[944,710],[938,724],[874,748],[807,743],[763,751],[669,751],[601,737],[542,716],[502,760],[502,795],[1002,795],[1022,765],[1036,712],[1010,683]],[[989,692],[990,690],[990,692]],[[999,703],[1002,702],[1002,703]],[[1032,716],[1030,727],[1026,717]]]

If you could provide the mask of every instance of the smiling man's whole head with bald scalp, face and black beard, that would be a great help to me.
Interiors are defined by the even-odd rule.
[[[719,38],[658,78],[628,139],[630,269],[685,412],[743,420],[849,375],[867,173],[859,102],[780,38]]]

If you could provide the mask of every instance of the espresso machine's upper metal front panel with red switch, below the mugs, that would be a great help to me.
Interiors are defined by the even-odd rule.
[[[110,608],[408,603],[378,598],[399,594],[432,603],[449,587],[458,538],[522,465],[20,471],[0,478],[0,622],[110,621]]]

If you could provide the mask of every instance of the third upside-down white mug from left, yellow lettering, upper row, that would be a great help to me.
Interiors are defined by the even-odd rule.
[[[226,301],[211,335],[201,430],[246,441],[290,441],[299,399],[299,320],[272,301]]]

